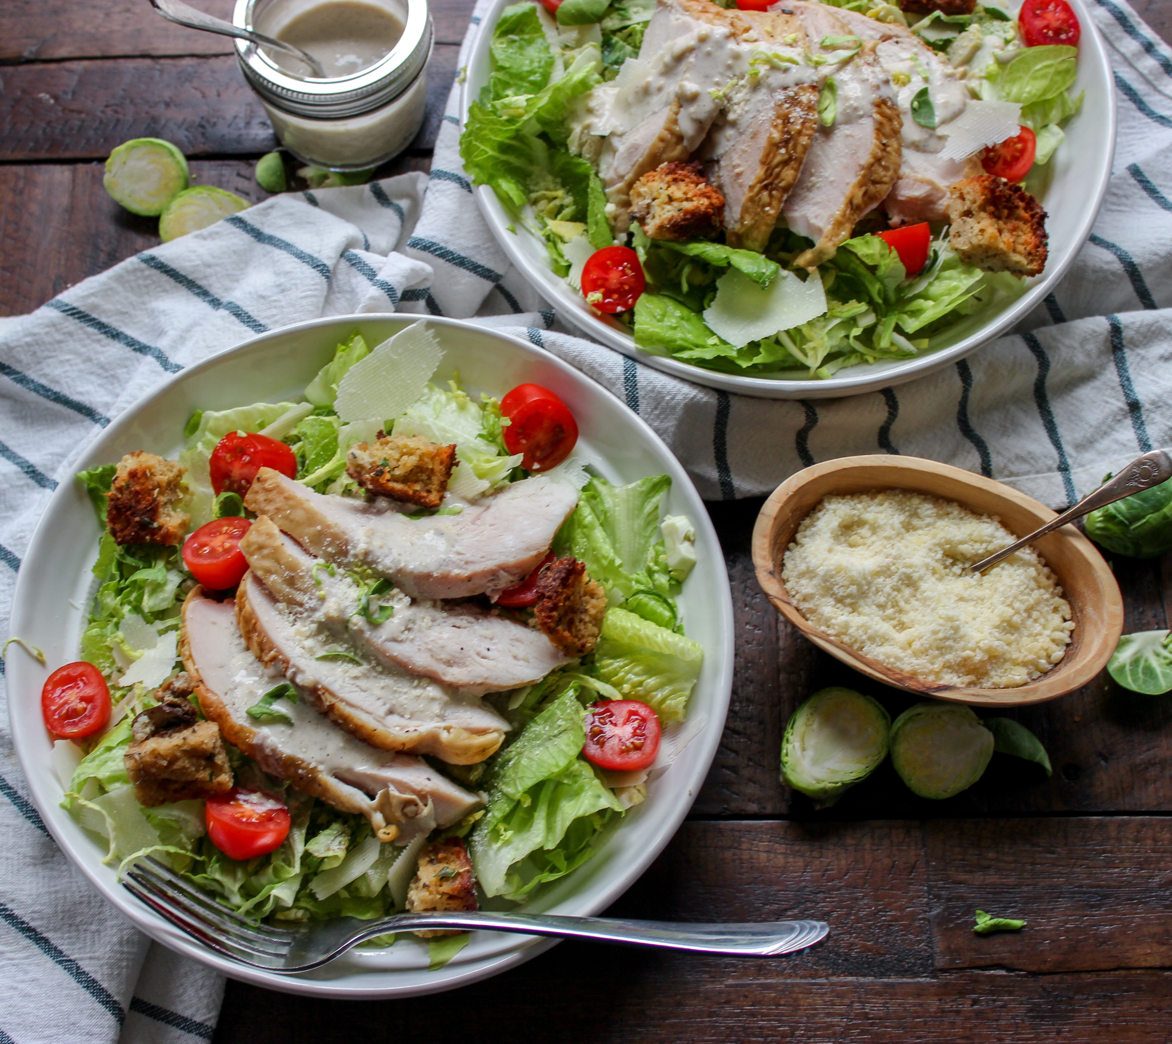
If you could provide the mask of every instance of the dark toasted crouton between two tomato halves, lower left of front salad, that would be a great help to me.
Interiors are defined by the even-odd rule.
[[[186,675],[180,675],[185,678]],[[232,789],[232,769],[214,722],[197,721],[196,708],[177,689],[130,725],[124,756],[139,805],[210,798]]]

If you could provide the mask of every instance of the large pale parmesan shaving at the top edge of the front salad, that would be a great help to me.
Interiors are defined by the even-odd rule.
[[[354,363],[338,385],[334,408],[342,421],[389,421],[427,388],[443,349],[427,322],[416,322]]]

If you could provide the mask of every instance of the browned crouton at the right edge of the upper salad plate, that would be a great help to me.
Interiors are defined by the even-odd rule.
[[[1038,275],[1045,267],[1045,211],[1021,185],[977,175],[948,190],[950,243],[986,272]]]

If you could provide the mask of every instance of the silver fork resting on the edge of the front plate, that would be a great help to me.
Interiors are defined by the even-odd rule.
[[[518,913],[395,914],[377,921],[338,917],[295,928],[274,928],[220,906],[155,859],[139,860],[127,878],[122,882],[125,888],[192,939],[241,964],[280,975],[320,968],[376,935],[418,928],[554,935],[740,957],[792,954],[819,942],[829,930],[820,921],[690,924]]]

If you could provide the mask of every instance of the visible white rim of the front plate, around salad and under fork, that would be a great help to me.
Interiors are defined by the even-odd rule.
[[[192,411],[295,400],[352,330],[361,329],[367,341],[376,344],[413,321],[401,315],[319,319],[246,341],[177,374],[141,400],[94,441],[77,469],[109,464],[138,449],[173,458]],[[473,394],[500,395],[524,381],[552,388],[578,419],[580,449],[606,478],[632,482],[647,475],[670,475],[667,507],[673,514],[687,514],[696,527],[699,562],[680,605],[688,634],[704,647],[704,667],[688,716],[689,721],[702,717],[704,726],[652,785],[647,801],[609,832],[594,858],[529,906],[534,912],[597,914],[625,892],[670,840],[716,752],[732,685],[732,602],[724,555],[683,469],[655,434],[616,398],[525,341],[450,319],[428,321],[447,353],[440,378],[458,370],[464,387]],[[94,510],[81,484],[62,483],[25,555],[12,612],[11,634],[43,649],[48,667],[40,667],[23,654],[9,655],[8,708],[13,743],[33,803],[57,844],[110,902],[152,939],[233,978],[318,996],[436,992],[496,975],[553,944],[532,936],[477,932],[447,968],[429,973],[424,944],[401,939],[386,951],[352,950],[318,971],[281,976],[246,968],[204,949],[122,888],[115,869],[102,865],[97,844],[59,805],[62,786],[50,766],[52,743],[40,710],[41,685],[49,670],[77,659],[86,614],[75,606],[87,605],[97,540]]]

